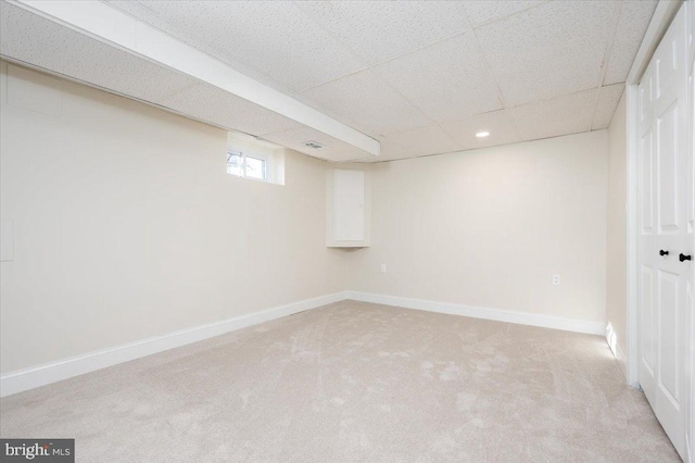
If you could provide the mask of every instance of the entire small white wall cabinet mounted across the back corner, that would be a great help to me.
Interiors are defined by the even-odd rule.
[[[326,246],[369,246],[371,188],[369,172],[333,168],[326,178]]]

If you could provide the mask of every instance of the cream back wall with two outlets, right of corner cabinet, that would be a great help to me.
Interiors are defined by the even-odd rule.
[[[607,151],[599,130],[375,165],[351,289],[603,323]]]

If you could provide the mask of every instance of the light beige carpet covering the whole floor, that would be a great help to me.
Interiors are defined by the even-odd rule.
[[[601,337],[354,301],[0,405],[83,462],[680,461]]]

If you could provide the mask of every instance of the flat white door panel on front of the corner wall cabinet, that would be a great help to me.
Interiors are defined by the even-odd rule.
[[[363,241],[365,239],[365,173],[340,168],[333,172],[336,240]]]

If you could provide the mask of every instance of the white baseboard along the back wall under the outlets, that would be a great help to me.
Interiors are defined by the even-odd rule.
[[[606,325],[601,322],[589,322],[553,315],[516,312],[502,309],[486,309],[447,302],[434,302],[422,299],[401,298],[396,296],[372,295],[369,292],[346,291],[345,297],[355,301],[395,305],[405,309],[417,309],[451,315],[469,316],[472,318],[492,320],[496,322],[514,323],[517,325],[540,326],[543,328],[561,329],[565,331],[584,333],[589,335],[604,335],[606,327]]]

